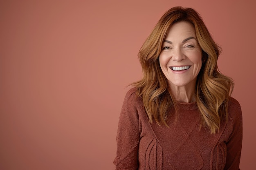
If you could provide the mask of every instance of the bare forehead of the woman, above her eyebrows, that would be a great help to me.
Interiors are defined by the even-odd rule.
[[[173,24],[170,27],[166,35],[166,39],[180,39],[187,38],[188,36],[196,38],[195,28],[193,24],[186,21],[181,21]]]

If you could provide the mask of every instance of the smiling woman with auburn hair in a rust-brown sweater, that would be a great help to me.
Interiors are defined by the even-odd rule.
[[[219,54],[195,10],[162,16],[139,51],[144,76],[121,109],[117,170],[239,169],[242,113]]]

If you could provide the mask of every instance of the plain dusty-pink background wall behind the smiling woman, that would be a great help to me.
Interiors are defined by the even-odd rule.
[[[162,14],[193,7],[222,46],[243,110],[240,168],[255,170],[253,0],[0,1],[0,169],[113,170],[126,86]]]

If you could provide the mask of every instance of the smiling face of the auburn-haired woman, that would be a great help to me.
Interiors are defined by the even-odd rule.
[[[170,87],[195,87],[202,67],[202,50],[189,22],[171,26],[159,55],[161,69]]]

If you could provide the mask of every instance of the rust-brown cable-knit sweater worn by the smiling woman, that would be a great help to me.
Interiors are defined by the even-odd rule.
[[[200,113],[193,103],[178,103],[174,124],[150,124],[136,88],[126,94],[117,131],[116,170],[239,170],[242,147],[242,112],[231,98],[228,121],[211,134],[200,128]]]

